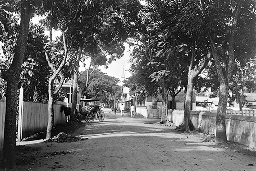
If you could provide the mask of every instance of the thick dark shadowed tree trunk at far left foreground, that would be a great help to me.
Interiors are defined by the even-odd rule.
[[[3,168],[12,169],[16,167],[15,146],[16,146],[16,115],[17,115],[17,91],[21,65],[24,60],[28,40],[29,21],[33,9],[30,1],[21,3],[21,24],[19,36],[15,48],[14,58],[8,71],[2,73],[3,79],[7,82],[6,89],[6,111],[5,111],[5,131],[3,140]]]

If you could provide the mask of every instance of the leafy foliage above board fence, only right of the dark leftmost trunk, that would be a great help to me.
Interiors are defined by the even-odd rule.
[[[49,67],[44,54],[48,42],[39,25],[31,25],[28,33],[27,50],[22,64],[20,85],[24,88],[24,100],[48,102]]]

